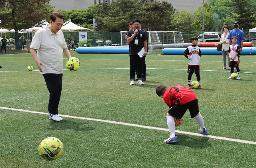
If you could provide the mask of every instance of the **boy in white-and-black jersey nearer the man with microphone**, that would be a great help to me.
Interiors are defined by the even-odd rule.
[[[200,78],[200,57],[202,55],[201,50],[197,45],[198,38],[196,36],[190,38],[190,42],[192,45],[188,46],[184,51],[185,57],[188,61],[188,88],[191,88],[191,78],[195,71],[196,80],[199,83],[198,89],[202,89],[201,87],[201,78]]]

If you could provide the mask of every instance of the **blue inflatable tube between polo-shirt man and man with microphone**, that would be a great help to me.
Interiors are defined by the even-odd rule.
[[[78,47],[77,53],[129,54],[128,47]]]

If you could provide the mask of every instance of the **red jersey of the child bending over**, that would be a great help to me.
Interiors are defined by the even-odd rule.
[[[196,94],[192,90],[180,85],[168,87],[164,92],[163,98],[169,108],[173,104],[184,105],[197,99]]]

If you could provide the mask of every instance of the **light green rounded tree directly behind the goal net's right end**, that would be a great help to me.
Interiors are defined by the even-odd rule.
[[[176,12],[176,14],[170,16],[170,22],[168,24],[168,30],[180,32],[191,32],[193,14],[188,10],[182,10]]]

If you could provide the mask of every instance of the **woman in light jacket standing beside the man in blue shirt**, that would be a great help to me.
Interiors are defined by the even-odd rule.
[[[228,69],[230,69],[230,65],[229,65],[229,56],[228,56],[228,26],[223,26],[222,30],[224,31],[224,33],[221,35],[220,38],[220,43],[222,43],[222,57],[223,57],[223,63],[224,63],[224,67],[222,69],[226,69],[226,56],[228,57]]]

